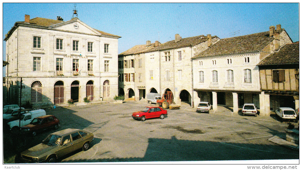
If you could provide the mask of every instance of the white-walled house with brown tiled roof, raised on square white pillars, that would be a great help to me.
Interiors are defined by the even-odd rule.
[[[221,39],[192,58],[193,88],[198,101],[233,107],[254,103],[261,115],[269,113],[269,96],[261,90],[258,63],[280,47],[291,43],[284,29]],[[232,45],[232,46],[230,46]]]

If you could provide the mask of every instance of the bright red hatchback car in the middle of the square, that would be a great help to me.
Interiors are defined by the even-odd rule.
[[[163,110],[160,107],[155,106],[147,106],[142,111],[134,112],[132,114],[133,119],[138,119],[141,121],[145,121],[146,119],[156,118],[164,119],[167,116],[167,110]]]

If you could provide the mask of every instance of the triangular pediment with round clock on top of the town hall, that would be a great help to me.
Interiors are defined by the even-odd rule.
[[[49,28],[100,35],[99,32],[97,32],[95,29],[91,28],[90,26],[86,25],[79,19],[74,19],[63,23],[54,24],[49,26]]]

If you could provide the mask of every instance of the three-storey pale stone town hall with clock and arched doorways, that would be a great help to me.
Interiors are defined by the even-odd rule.
[[[119,36],[93,29],[78,18],[66,22],[34,18],[15,26],[5,38],[10,63],[6,68],[8,103],[17,103],[13,96],[21,77],[22,103],[35,106],[55,104],[58,97],[59,103],[66,103],[72,98],[82,102],[84,97],[100,100],[117,95]],[[59,96],[56,85],[63,86]]]

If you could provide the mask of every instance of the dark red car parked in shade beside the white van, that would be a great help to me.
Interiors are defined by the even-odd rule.
[[[21,130],[28,132],[29,134],[36,136],[37,132],[45,129],[59,128],[59,119],[53,115],[45,115],[34,118],[30,124],[22,126]]]

